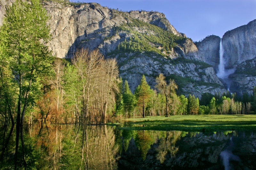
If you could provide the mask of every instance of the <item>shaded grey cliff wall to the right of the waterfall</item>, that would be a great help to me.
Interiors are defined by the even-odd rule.
[[[235,68],[231,80],[231,92],[242,95],[251,93],[256,86],[256,20],[226,32],[222,38],[226,68]]]

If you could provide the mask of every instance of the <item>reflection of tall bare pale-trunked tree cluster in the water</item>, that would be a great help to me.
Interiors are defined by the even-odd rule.
[[[117,152],[112,128],[106,125],[83,127],[79,169],[116,169]]]

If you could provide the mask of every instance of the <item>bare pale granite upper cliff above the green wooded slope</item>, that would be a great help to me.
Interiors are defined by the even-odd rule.
[[[175,35],[185,36],[176,31],[165,15],[159,12],[119,12],[97,3],[70,6],[45,2],[44,7],[51,16],[52,40],[48,45],[59,58],[72,57],[77,48],[99,48],[104,55],[116,49],[128,35],[120,33],[111,39],[105,37],[114,32],[114,26],[129,22],[125,17],[140,19]]]

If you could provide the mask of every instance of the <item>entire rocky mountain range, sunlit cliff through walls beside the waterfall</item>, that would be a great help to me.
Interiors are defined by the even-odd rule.
[[[13,1],[1,1],[0,25],[5,7]],[[51,16],[52,40],[47,45],[59,58],[72,57],[77,48],[99,48],[106,58],[117,59],[120,76],[128,80],[132,91],[142,74],[153,88],[159,73],[174,78],[179,92],[185,95],[201,97],[204,92],[226,91],[216,76],[220,57],[218,36],[208,36],[195,45],[163,13],[123,12],[97,3],[42,3]],[[255,67],[255,23],[256,20],[228,31],[222,38],[225,68],[236,69],[229,76],[231,92],[252,93],[256,85],[254,73],[248,72],[248,68]]]

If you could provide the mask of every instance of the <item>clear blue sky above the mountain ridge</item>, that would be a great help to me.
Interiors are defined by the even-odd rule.
[[[76,2],[76,0],[74,0]],[[81,0],[80,0],[81,1]],[[163,12],[177,31],[193,41],[207,35],[222,37],[228,30],[256,19],[256,0],[82,0],[122,11]]]

